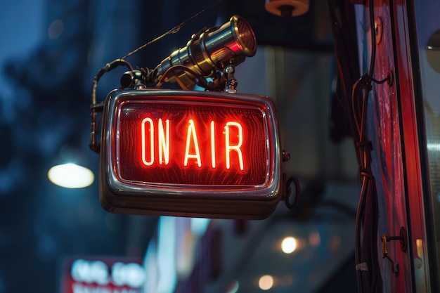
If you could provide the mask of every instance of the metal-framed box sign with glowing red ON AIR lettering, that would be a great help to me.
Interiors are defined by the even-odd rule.
[[[113,91],[105,100],[100,195],[129,214],[258,219],[280,200],[273,101],[202,91]]]

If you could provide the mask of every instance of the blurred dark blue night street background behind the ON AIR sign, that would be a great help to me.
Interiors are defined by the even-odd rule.
[[[358,166],[333,98],[325,2],[283,18],[264,0],[224,0],[128,58],[154,68],[203,27],[234,14],[250,22],[259,46],[236,68],[238,92],[276,100],[291,155],[283,171],[302,185],[295,209],[280,203],[261,221],[110,214],[98,201],[99,156],[88,146],[93,77],[214,1],[1,4],[0,293],[354,291]],[[98,100],[123,72],[101,78]],[[65,162],[91,169],[93,183],[51,183],[48,169]]]

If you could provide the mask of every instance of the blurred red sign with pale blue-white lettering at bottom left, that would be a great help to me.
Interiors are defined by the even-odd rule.
[[[72,258],[63,263],[63,293],[141,293],[145,270],[140,261]]]

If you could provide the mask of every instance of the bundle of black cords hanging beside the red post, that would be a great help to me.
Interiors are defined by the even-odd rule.
[[[371,151],[373,145],[365,134],[367,122],[368,96],[372,91],[372,82],[381,84],[387,79],[377,81],[373,79],[376,54],[374,1],[369,3],[371,58],[368,74],[364,74],[353,86],[352,110],[356,130],[358,131],[358,162],[361,176],[361,194],[355,221],[355,260],[358,292],[382,292],[382,277],[379,261],[377,260],[377,225],[378,199],[375,178],[371,169]],[[361,98],[361,101],[359,99]],[[361,103],[359,103],[361,102]]]

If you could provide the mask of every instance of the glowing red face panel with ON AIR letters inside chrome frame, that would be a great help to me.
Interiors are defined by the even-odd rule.
[[[250,105],[125,100],[115,120],[117,174],[137,183],[263,185],[265,116]]]

